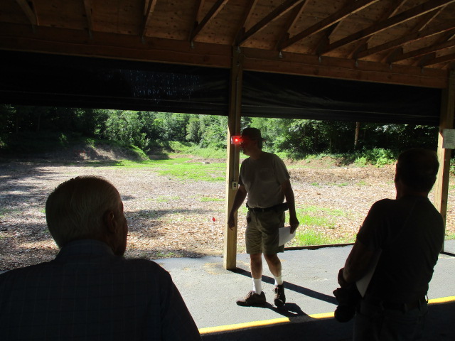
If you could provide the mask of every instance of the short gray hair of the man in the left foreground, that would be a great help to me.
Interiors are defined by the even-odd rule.
[[[102,236],[103,216],[119,210],[120,195],[104,178],[78,176],[58,185],[45,203],[48,229],[58,247]]]

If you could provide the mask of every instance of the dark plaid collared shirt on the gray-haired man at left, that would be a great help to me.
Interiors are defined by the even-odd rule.
[[[53,261],[0,275],[6,340],[200,340],[171,275],[80,240]]]

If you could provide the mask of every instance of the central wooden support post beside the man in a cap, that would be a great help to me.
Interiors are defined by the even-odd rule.
[[[228,227],[229,212],[237,193],[240,163],[240,148],[230,144],[230,136],[240,135],[240,109],[242,106],[243,55],[240,49],[233,48],[230,71],[230,103],[228,114],[228,160],[226,162],[226,224],[224,234],[224,267],[233,270],[237,267],[237,216],[235,227]]]

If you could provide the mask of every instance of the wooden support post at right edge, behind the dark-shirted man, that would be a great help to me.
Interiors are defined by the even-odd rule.
[[[439,172],[434,185],[434,206],[441,213],[444,220],[444,235],[446,231],[447,196],[449,193],[449,171],[451,149],[442,148],[444,143],[444,129],[454,128],[455,111],[455,72],[449,75],[449,85],[442,91],[441,118],[439,120],[438,158]],[[444,251],[444,244],[442,245]]]

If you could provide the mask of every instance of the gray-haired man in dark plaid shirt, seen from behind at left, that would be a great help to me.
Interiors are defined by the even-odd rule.
[[[168,272],[124,259],[128,225],[111,183],[65,181],[45,213],[60,251],[0,275],[1,340],[200,340]]]

